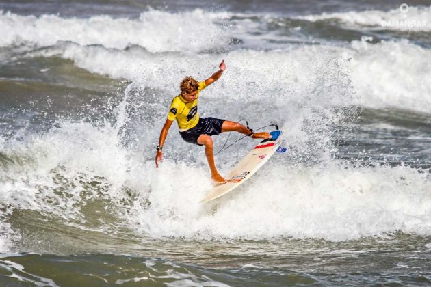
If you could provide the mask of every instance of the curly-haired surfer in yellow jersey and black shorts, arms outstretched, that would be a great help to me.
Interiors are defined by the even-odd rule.
[[[207,156],[209,168],[211,169],[211,178],[215,183],[224,183],[226,180],[218,173],[215,168],[213,154],[213,139],[211,135],[218,135],[227,131],[237,131],[252,139],[270,139],[270,133],[253,133],[248,127],[237,122],[220,120],[217,118],[200,118],[198,115],[198,97],[200,91],[204,90],[222,76],[226,69],[224,60],[219,65],[220,70],[211,75],[208,79],[198,82],[192,77],[185,77],[180,83],[181,93],[176,96],[170,104],[168,118],[161,128],[159,145],[155,157],[156,167],[159,167],[161,161],[161,150],[163,148],[166,136],[172,122],[177,120],[180,135],[188,143],[194,143],[198,146],[205,146],[205,155]]]

